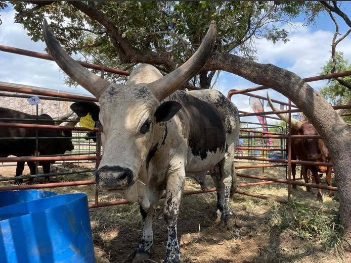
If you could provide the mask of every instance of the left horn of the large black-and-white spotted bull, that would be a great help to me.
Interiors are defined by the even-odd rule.
[[[74,81],[99,98],[110,83],[85,69],[78,62],[68,56],[55,38],[46,19],[43,19],[42,31],[50,55],[54,58],[57,65],[59,65],[59,67]]]

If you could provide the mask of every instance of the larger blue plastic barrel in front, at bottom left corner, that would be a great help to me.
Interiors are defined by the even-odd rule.
[[[0,262],[94,262],[86,194],[0,208]]]

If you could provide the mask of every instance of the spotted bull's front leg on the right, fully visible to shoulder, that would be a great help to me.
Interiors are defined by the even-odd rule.
[[[164,219],[167,224],[168,240],[166,245],[166,256],[163,263],[182,262],[182,253],[177,237],[177,221],[179,205],[185,182],[185,168],[172,171],[167,180],[166,204],[164,207]]]

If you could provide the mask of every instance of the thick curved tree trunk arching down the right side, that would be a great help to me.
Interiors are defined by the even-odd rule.
[[[332,156],[340,196],[345,248],[351,251],[351,127],[323,96],[296,74],[271,64],[259,64],[229,54],[213,54],[203,70],[225,70],[282,93],[311,120]]]

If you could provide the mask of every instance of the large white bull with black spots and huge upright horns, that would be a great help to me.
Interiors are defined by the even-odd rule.
[[[215,23],[195,54],[173,72],[140,65],[125,85],[110,84],[71,59],[46,21],[43,32],[54,60],[100,103],[104,154],[96,172],[100,189],[139,201],[143,231],[133,262],[150,257],[153,209],[166,191],[168,240],[164,262],[181,262],[177,238],[179,205],[186,176],[211,167],[217,189],[217,216],[233,217],[229,198],[236,190],[234,152],[239,136],[237,108],[215,90],[181,91],[205,64],[215,40]]]

